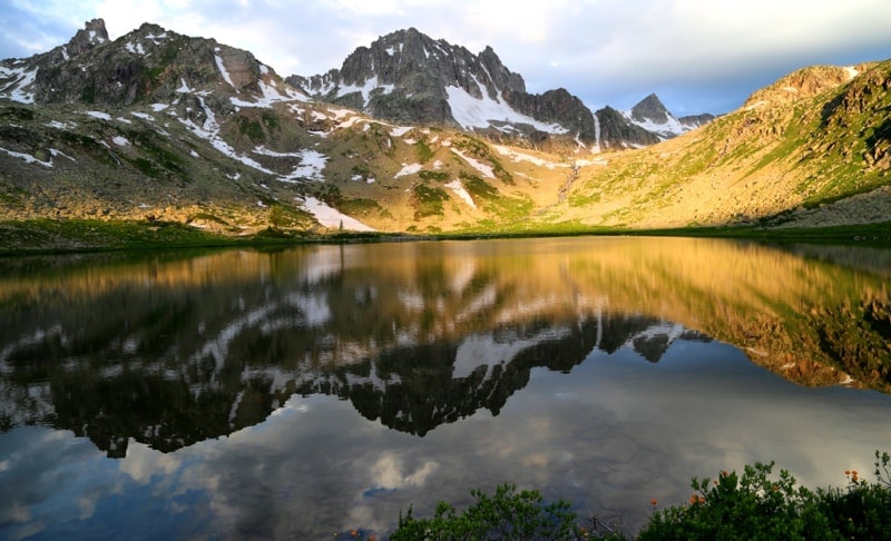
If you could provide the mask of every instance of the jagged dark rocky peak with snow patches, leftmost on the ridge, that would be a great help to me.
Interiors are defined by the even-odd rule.
[[[180,89],[238,96],[242,101],[304,98],[249,51],[144,23],[110,41],[94,19],[65,46],[0,66],[0,98],[105,107],[172,101]],[[274,87],[274,88],[273,88]]]

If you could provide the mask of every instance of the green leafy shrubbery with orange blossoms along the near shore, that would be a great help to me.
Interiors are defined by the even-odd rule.
[[[840,540],[891,539],[891,456],[875,452],[877,481],[846,471],[841,489],[797,486],[787,471],[772,479],[773,463],[746,465],[743,474],[693,479],[687,504],[656,511],[639,540]],[[624,539],[578,525],[570,503],[546,503],[538,491],[505,484],[463,513],[440,502],[432,519],[400,514],[393,541]],[[655,506],[655,502],[654,502]],[[596,524],[595,524],[596,525]]]

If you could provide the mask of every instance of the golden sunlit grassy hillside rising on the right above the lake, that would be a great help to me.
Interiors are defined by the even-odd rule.
[[[676,139],[586,168],[550,220],[664,227],[891,219],[891,62],[807,68]]]

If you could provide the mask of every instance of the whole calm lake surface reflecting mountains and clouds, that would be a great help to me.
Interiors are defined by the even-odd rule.
[[[571,238],[0,262],[0,535],[382,537],[505,481],[633,533],[721,469],[842,485],[891,449],[884,260]]]

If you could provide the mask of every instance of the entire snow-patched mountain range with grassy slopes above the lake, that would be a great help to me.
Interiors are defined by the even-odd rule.
[[[148,23],[110,41],[97,19],[0,61],[0,249],[891,222],[890,71],[804,68],[686,132],[656,96],[589,114],[413,30],[296,88],[248,51]]]

